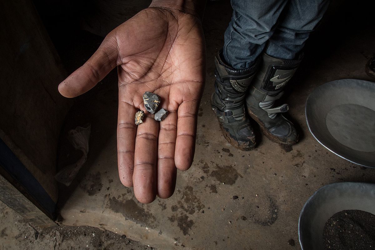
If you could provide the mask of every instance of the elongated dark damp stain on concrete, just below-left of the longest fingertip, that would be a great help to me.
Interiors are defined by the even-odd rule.
[[[141,226],[155,225],[156,218],[132,199],[120,201],[112,197],[109,200],[108,208]]]

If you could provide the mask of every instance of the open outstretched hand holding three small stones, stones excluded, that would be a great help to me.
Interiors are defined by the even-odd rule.
[[[115,28],[95,54],[59,85],[65,97],[91,89],[118,66],[118,173],[136,198],[170,197],[176,167],[193,161],[196,114],[204,85],[205,45],[201,22],[193,15],[160,8],[142,10]],[[145,91],[161,97],[169,111],[162,122],[143,104]],[[145,111],[144,123],[134,116]]]

